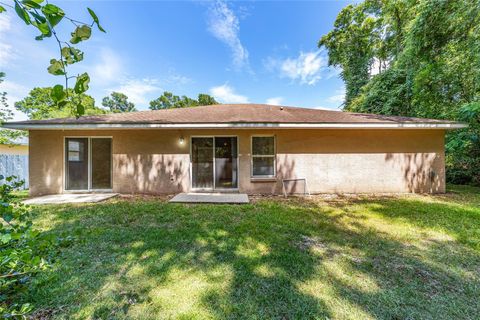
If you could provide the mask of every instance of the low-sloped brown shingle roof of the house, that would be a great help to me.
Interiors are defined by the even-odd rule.
[[[27,120],[14,125],[53,124],[201,124],[201,123],[455,123],[445,120],[382,116],[265,104],[220,104],[194,108],[114,113],[76,118]]]

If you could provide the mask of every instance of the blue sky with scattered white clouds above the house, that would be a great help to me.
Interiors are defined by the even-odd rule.
[[[55,3],[55,2],[52,2]],[[86,7],[107,33],[95,30],[79,47],[97,105],[112,91],[127,94],[138,109],[163,91],[224,103],[271,103],[338,109],[344,96],[339,70],[327,65],[319,38],[331,30],[348,2],[309,1],[58,1],[69,15],[89,21]],[[56,42],[34,40],[35,30],[13,12],[0,15],[0,71],[9,102],[35,86],[62,79],[46,72]],[[60,34],[69,39],[72,26]],[[16,119],[24,118],[16,114]]]

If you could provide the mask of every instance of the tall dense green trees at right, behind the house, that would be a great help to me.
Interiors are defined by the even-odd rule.
[[[447,178],[480,185],[480,2],[366,0],[323,36],[347,111],[450,119]]]

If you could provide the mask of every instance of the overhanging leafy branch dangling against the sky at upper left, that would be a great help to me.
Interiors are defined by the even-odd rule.
[[[44,2],[44,0],[13,0],[11,4],[2,2],[0,13],[6,11],[5,7],[13,9],[26,25],[30,25],[40,32],[35,40],[40,41],[52,36],[55,38],[58,44],[58,59],[51,59],[47,70],[52,75],[63,77],[65,86],[62,84],[55,85],[51,97],[59,109],[62,109],[66,104],[70,104],[75,106],[73,110],[75,115],[83,115],[86,106],[80,104],[82,100],[74,99],[75,96],[71,94],[72,91],[69,90],[68,85],[70,79],[75,79],[73,92],[77,95],[85,93],[89,88],[90,77],[86,72],[77,76],[69,75],[67,69],[69,65],[83,60],[83,52],[74,45],[90,38],[93,25],[96,25],[100,31],[105,32],[100,26],[98,16],[92,9],[87,8],[92,22],[78,21],[68,17],[60,7],[48,3],[48,1]],[[62,21],[72,23],[75,28],[68,42],[61,40],[57,34],[57,27],[61,25]]]

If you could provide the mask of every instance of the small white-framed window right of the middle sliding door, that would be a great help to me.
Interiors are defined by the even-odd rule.
[[[275,176],[275,137],[252,137],[252,177]]]

